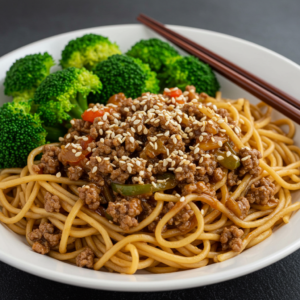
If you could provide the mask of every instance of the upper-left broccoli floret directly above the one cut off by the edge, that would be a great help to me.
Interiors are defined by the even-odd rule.
[[[49,75],[54,60],[47,52],[32,54],[16,60],[6,73],[4,93],[14,101],[33,97],[36,88]]]

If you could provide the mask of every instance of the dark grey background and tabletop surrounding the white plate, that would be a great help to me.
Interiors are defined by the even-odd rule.
[[[163,23],[214,30],[270,48],[300,64],[299,0],[0,0],[0,56],[76,29]],[[0,299],[300,299],[300,250],[258,272],[201,288],[117,293],[59,284],[0,262]]]

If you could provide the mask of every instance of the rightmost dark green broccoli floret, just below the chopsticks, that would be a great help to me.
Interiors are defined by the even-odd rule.
[[[187,85],[196,87],[197,92],[215,96],[220,84],[209,65],[199,61],[193,56],[174,59],[164,74],[165,87],[178,87],[182,90]]]

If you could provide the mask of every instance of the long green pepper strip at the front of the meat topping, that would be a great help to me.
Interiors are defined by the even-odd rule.
[[[144,194],[153,194],[155,192],[170,190],[176,187],[177,182],[175,176],[170,173],[166,173],[162,176],[157,176],[157,179],[168,179],[166,182],[158,182],[155,187],[152,184],[118,184],[111,183],[111,187],[114,192],[123,196],[137,196]]]

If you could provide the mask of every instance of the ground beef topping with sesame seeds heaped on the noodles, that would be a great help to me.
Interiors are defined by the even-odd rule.
[[[106,210],[124,231],[137,226],[139,219],[149,215],[155,204],[149,200],[150,191],[143,197],[127,195],[121,198],[110,191],[108,201],[105,197],[112,183],[157,187],[162,175],[168,173],[168,178],[163,180],[174,182],[165,193],[216,197],[211,187],[220,182],[227,171],[230,192],[244,175],[254,178],[260,174],[261,154],[257,150],[244,148],[236,155],[231,153],[234,145],[221,124],[226,122],[238,137],[243,133],[230,111],[218,109],[216,104],[208,102],[207,94],[197,93],[194,86],[187,86],[183,93],[177,91],[176,94],[179,96],[172,97],[171,91],[166,89],[164,94],[147,92],[131,99],[119,93],[112,96],[106,106],[90,104],[89,110],[101,110],[98,117],[89,119],[92,122],[73,119],[69,132],[61,139],[61,151],[45,146],[41,164],[35,168],[39,168],[39,173],[60,171],[58,176],[89,181],[90,184],[78,189],[80,198],[89,209]],[[210,112],[211,118],[202,113],[203,108]],[[227,157],[230,152],[234,159],[241,160],[241,166],[234,171],[226,170],[218,157],[219,152],[226,153]],[[248,197],[251,197],[250,191]],[[245,199],[237,203],[246,216]],[[156,227],[172,205],[166,204],[157,220],[149,225],[149,230]],[[191,218],[193,211],[187,206],[166,228],[188,227]]]

